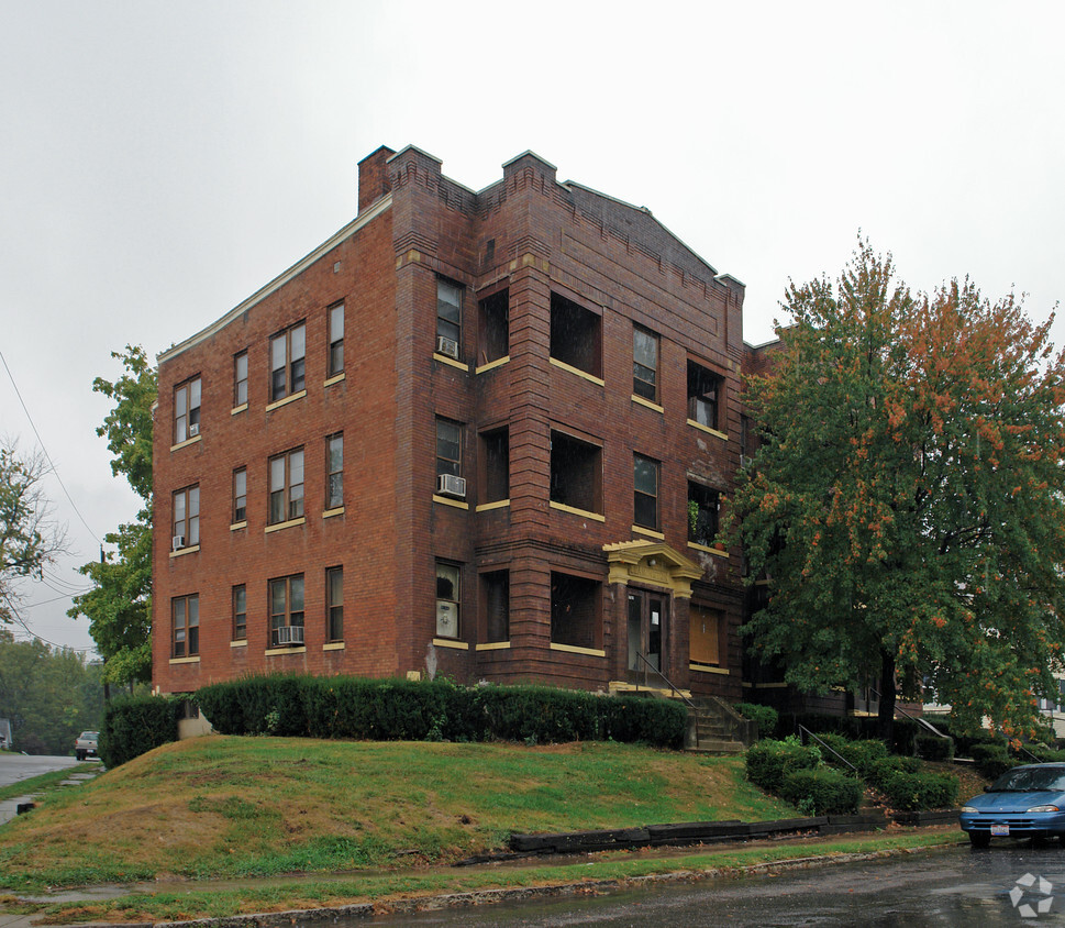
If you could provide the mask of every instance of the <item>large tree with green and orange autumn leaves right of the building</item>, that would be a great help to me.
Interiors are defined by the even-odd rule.
[[[862,242],[835,285],[792,285],[772,374],[747,383],[763,444],[731,532],[770,577],[747,626],[806,692],[921,682],[1011,737],[1056,695],[1065,642],[1065,358],[1051,322],[969,281],[931,296]]]

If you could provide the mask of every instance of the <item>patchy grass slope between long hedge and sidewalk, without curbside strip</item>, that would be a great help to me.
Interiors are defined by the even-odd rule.
[[[624,744],[168,744],[0,827],[0,888],[407,869],[511,831],[794,814],[737,759]]]

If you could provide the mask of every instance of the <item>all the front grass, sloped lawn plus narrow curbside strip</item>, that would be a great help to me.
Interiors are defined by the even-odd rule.
[[[613,852],[580,864],[447,866],[504,850],[512,831],[795,814],[748,784],[736,758],[595,742],[529,748],[217,736],[168,744],[47,793],[32,813],[0,826],[0,908],[56,921],[179,920],[961,839],[952,831],[856,836],[817,849]],[[271,879],[238,887],[197,882],[232,877]],[[15,894],[45,887],[142,880],[182,882],[91,903],[14,902]]]

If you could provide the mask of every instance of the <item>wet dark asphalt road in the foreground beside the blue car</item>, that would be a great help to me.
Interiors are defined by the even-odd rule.
[[[1041,884],[1039,877],[1046,882]],[[1049,887],[1049,893],[1040,892],[1041,886],[1044,891]],[[1028,917],[1023,906],[1031,906]],[[521,906],[362,919],[351,923],[351,928],[356,924],[466,928],[1065,925],[1065,850],[1056,842],[1046,848],[1006,843],[986,851],[958,847],[778,875],[707,880]]]

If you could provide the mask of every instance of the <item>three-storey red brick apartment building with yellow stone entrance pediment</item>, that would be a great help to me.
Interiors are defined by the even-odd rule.
[[[446,674],[741,697],[743,285],[525,153],[414,147],[159,356],[153,677]]]

